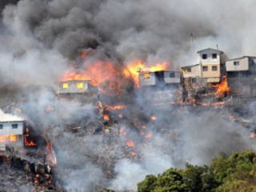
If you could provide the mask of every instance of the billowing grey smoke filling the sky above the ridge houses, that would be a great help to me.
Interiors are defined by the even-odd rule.
[[[172,69],[197,62],[197,50],[217,44],[231,57],[254,54],[254,6],[250,0],[22,0],[3,11],[1,58],[25,54],[22,61],[31,65],[15,62],[24,73],[27,67],[57,72],[79,49],[98,46],[124,62],[168,61]]]

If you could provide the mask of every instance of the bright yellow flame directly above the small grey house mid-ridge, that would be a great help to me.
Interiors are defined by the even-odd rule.
[[[139,87],[138,83],[138,74],[139,73],[150,73],[159,70],[168,70],[167,62],[156,63],[153,66],[146,66],[141,60],[129,63],[125,70],[123,70],[123,74],[126,78],[133,78],[135,87]]]

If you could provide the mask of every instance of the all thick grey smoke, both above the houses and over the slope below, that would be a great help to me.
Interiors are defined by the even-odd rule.
[[[184,166],[186,160],[208,163],[222,150],[254,147],[242,126],[216,111],[194,111],[193,106],[157,110],[140,95],[130,99],[136,102],[124,112],[127,138],[85,136],[82,131],[98,126],[91,125],[99,118],[94,104],[55,100],[51,90],[35,96],[27,86],[55,86],[82,49],[97,49],[101,57],[123,65],[138,58],[149,66],[167,61],[171,70],[198,62],[197,50],[217,44],[230,57],[254,55],[255,6],[253,0],[21,0],[2,12],[0,86],[5,90],[0,91],[0,106],[10,98],[7,94],[13,94],[19,101],[15,104],[39,132],[52,128],[47,134],[69,191],[93,191],[98,185],[133,190],[146,174]],[[46,112],[48,105],[55,110]],[[157,116],[156,122],[145,120],[151,114]],[[152,128],[153,136],[146,142],[131,125],[139,121]],[[129,138],[142,161],[123,154]],[[114,167],[109,167],[111,158],[116,160]],[[112,180],[98,166],[102,164],[114,170]]]

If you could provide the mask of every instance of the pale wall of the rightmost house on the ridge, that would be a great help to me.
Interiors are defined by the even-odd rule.
[[[239,62],[238,66],[234,66],[234,62]],[[226,71],[249,70],[249,58],[240,58],[232,61],[226,61]]]

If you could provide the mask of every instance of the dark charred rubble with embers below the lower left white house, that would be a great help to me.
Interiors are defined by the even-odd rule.
[[[64,191],[56,185],[49,166],[36,165],[14,155],[0,155],[0,175],[2,192]]]

